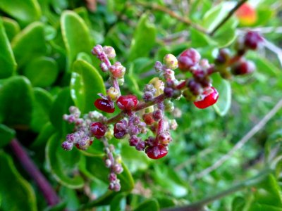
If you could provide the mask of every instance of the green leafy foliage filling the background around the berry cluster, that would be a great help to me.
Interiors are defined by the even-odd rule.
[[[211,37],[138,2],[152,3],[0,1],[0,210],[47,209],[42,193],[11,157],[8,143],[15,136],[56,188],[62,203],[54,210],[139,211],[187,205],[269,167],[273,172],[262,181],[215,200],[207,210],[282,210],[282,111],[223,165],[196,177],[228,153],[281,99],[279,51],[267,45],[247,54],[257,65],[255,74],[229,82],[214,77],[220,93],[214,108],[198,110],[183,99],[175,102],[181,115],[170,114],[178,129],[166,158],[149,160],[145,153],[130,148],[128,141],[111,140],[123,157],[120,193],[107,191],[109,170],[104,167],[99,141],[86,152],[61,149],[73,129],[62,119],[68,107],[75,105],[87,113],[94,110],[97,93],[105,93],[106,76],[91,56],[94,44],[116,49],[118,60],[127,68],[123,93],[140,96],[144,85],[157,77],[150,71],[154,62],[166,53],[178,56],[193,47],[213,63],[221,47],[232,49],[235,39],[247,30],[233,16]],[[209,31],[235,3],[154,1]],[[250,4],[258,16],[250,27],[281,48],[282,4],[274,0]]]

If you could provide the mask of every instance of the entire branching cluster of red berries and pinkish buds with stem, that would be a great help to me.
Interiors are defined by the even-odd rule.
[[[172,54],[164,56],[163,63],[157,61],[154,65],[158,77],[154,77],[144,87],[142,100],[133,94],[121,95],[120,85],[124,82],[125,67],[116,62],[111,65],[110,60],[116,53],[110,46],[94,46],[92,54],[101,61],[100,68],[109,73],[111,87],[106,96],[98,94],[100,98],[94,101],[94,106],[105,113],[114,113],[116,107],[118,115],[106,118],[102,113],[93,111],[80,118],[78,108],[71,106],[70,115],[63,115],[63,119],[75,124],[74,133],[68,134],[62,147],[69,151],[73,145],[80,150],[91,146],[94,138],[104,143],[105,165],[110,169],[109,189],[118,191],[121,188],[117,174],[123,171],[121,157],[114,157],[114,146],[109,140],[128,138],[130,146],[137,151],[144,151],[149,158],[163,158],[168,153],[171,143],[171,129],[176,129],[176,120],[168,120],[165,112],[175,111],[173,101],[181,96],[192,101],[197,108],[204,109],[214,105],[219,98],[219,92],[212,87],[211,75],[219,72],[223,78],[233,75],[245,75],[254,71],[255,65],[243,58],[249,49],[255,50],[262,44],[262,37],[256,32],[248,32],[239,39],[235,56],[227,49],[221,49],[214,64],[201,59],[195,49],[187,49],[176,58]],[[178,80],[175,70],[190,72],[192,77]],[[186,75],[186,74],[185,74]],[[111,127],[114,124],[114,128]]]

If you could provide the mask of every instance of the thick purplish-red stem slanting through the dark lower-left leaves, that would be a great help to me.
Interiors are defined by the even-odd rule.
[[[26,151],[23,149],[23,146],[20,145],[17,139],[13,139],[10,143],[13,153],[18,158],[18,161],[25,169],[25,172],[30,175],[32,179],[35,180],[35,183],[39,187],[40,191],[44,195],[47,204],[52,206],[59,203],[59,197],[56,195],[56,192],[53,190],[49,181],[44,177],[44,175],[38,170],[34,162],[28,157]]]

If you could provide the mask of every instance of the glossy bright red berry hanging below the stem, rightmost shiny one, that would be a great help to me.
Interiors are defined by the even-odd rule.
[[[202,96],[201,100],[194,102],[195,106],[201,109],[214,105],[219,98],[219,92],[214,87],[209,87],[204,89]]]

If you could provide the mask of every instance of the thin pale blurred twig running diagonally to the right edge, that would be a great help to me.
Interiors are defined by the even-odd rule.
[[[244,144],[247,143],[247,141],[249,141],[250,138],[252,138],[252,136],[254,136],[257,132],[259,132],[259,130],[262,129],[264,127],[264,125],[267,122],[269,122],[269,120],[272,117],[274,117],[274,115],[281,108],[282,108],[282,100],[278,101],[278,103],[274,106],[274,108],[272,108],[271,111],[269,111],[269,113],[267,113],[262,118],[262,120],[259,121],[259,123],[257,123],[254,127],[252,127],[252,129],[249,132],[247,132],[247,134],[245,134],[245,136],[243,136],[243,138],[240,141],[238,141],[238,143],[236,143],[235,146],[233,146],[231,151],[229,151],[226,155],[223,155],[219,160],[214,162],[214,164],[212,166],[207,167],[207,169],[204,169],[204,170],[202,170],[202,172],[197,174],[196,175],[197,179],[200,179],[200,178],[204,177],[204,175],[209,174],[210,172],[216,170],[218,167],[220,167],[223,164],[223,162],[226,162],[226,160],[231,158],[231,156],[235,153],[235,151],[242,148],[244,146]]]

